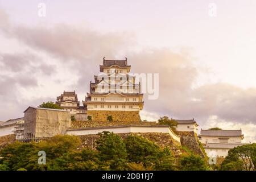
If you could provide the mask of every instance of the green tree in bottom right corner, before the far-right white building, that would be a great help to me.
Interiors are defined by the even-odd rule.
[[[224,162],[221,164],[222,170],[230,171],[251,171],[256,166],[256,143],[246,144],[232,148],[228,152]]]

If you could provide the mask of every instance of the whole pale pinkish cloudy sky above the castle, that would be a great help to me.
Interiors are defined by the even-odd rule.
[[[84,100],[102,58],[127,57],[131,72],[159,73],[142,119],[195,118],[255,142],[255,9],[253,0],[0,0],[0,121],[63,90]]]

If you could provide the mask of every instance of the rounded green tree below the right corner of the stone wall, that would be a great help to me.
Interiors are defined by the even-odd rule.
[[[198,155],[184,155],[179,159],[179,168],[183,171],[205,171],[208,166]]]

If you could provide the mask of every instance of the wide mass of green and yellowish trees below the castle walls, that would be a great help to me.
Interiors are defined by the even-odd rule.
[[[96,150],[81,148],[80,138],[70,135],[57,135],[37,143],[9,144],[0,151],[0,170],[207,169],[199,156],[191,154],[177,160],[170,148],[161,148],[138,135],[128,135],[125,139],[109,132],[99,135]],[[38,164],[39,151],[46,152],[46,164]]]

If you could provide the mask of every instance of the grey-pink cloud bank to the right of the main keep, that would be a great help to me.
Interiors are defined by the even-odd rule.
[[[130,56],[133,72],[159,73],[159,98],[147,100],[144,109],[174,118],[196,118],[203,124],[210,115],[226,121],[256,123],[256,88],[242,89],[218,83],[193,89],[199,69],[187,53],[168,49]]]

